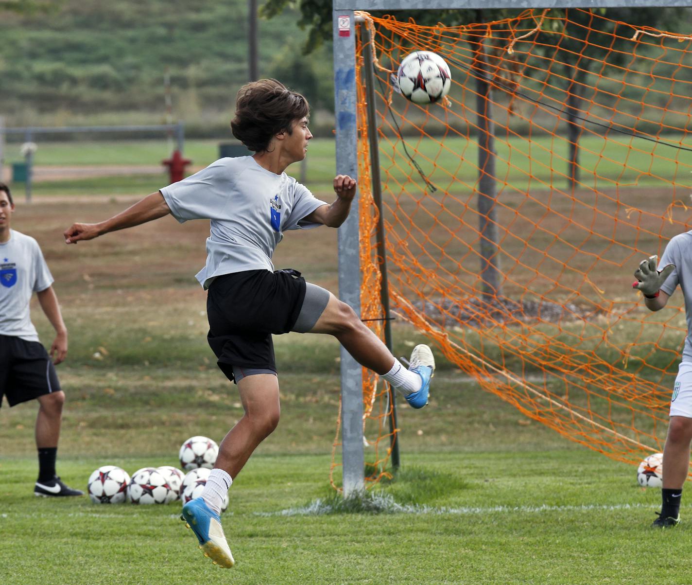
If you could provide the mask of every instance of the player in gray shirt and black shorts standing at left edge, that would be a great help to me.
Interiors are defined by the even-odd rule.
[[[55,474],[65,393],[53,364],[65,359],[67,329],[39,244],[10,228],[14,213],[10,188],[0,183],[0,404],[3,395],[10,406],[33,399],[39,403],[34,431],[39,476],[34,494],[81,496],[83,492],[68,487]],[[50,356],[31,323],[29,303],[34,293],[55,329]]]

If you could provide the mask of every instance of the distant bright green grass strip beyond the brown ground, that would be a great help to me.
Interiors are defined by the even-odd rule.
[[[664,136],[666,143],[679,144],[684,136]],[[477,144],[475,139],[448,136],[439,142],[435,138],[414,141],[405,138],[405,145],[383,140],[381,161],[383,173],[396,181],[411,177],[422,184],[417,171],[406,159],[406,150],[415,154],[417,163],[428,180],[438,188],[457,192],[465,191],[477,181]],[[191,169],[203,168],[219,157],[219,144],[233,142],[230,132],[219,140],[185,141],[185,156],[192,160]],[[678,184],[689,186],[689,165],[671,156],[673,150],[636,138],[602,138],[585,136],[581,140],[581,181],[585,186],[608,190],[617,186],[668,188],[675,179]],[[511,196],[515,189],[531,192],[565,188],[567,172],[567,145],[556,136],[498,137],[496,143],[498,162],[496,176],[498,188]],[[674,154],[674,152],[673,152]],[[161,165],[170,156],[170,146],[165,139],[131,141],[76,141],[39,142],[35,165]],[[9,144],[5,154],[7,163],[21,162],[19,144]],[[314,192],[328,192],[334,178],[334,141],[315,138],[309,146],[307,158],[307,185]],[[589,169],[591,172],[587,172]],[[289,172],[300,177],[300,165],[293,165]],[[96,178],[66,177],[35,181],[35,195],[140,195],[164,186],[167,175],[163,165],[159,174],[132,176],[105,176]],[[18,183],[19,191],[23,184]]]

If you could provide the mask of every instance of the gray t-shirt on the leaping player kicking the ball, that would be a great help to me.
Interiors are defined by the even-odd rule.
[[[303,218],[327,205],[285,172],[268,171],[252,156],[219,159],[164,187],[161,195],[179,222],[211,220],[207,263],[197,273],[205,289],[222,274],[273,271],[271,257],[283,232],[321,225]]]

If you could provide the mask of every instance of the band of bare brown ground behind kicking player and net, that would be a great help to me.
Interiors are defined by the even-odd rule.
[[[166,217],[94,242],[78,246],[63,243],[62,232],[73,222],[107,219],[140,197],[141,194],[34,196],[30,205],[20,198],[13,225],[37,237],[44,252],[64,269],[64,278],[60,279],[63,282],[75,278],[72,262],[86,273],[98,273],[107,265],[113,284],[145,281],[152,272],[157,275],[154,280],[164,287],[166,282],[176,282],[181,274],[194,276],[206,258],[208,222],[181,225]],[[632,300],[632,273],[641,258],[662,253],[669,237],[690,228],[689,207],[677,206],[671,209],[670,215],[665,214],[673,197],[668,190],[641,188],[599,196],[585,193],[576,200],[551,192],[536,193],[523,201],[502,196],[499,200],[504,206],[498,213],[498,224],[506,226],[503,228],[506,231],[500,234],[500,269],[510,277],[505,283],[507,294],[512,294],[511,289],[517,286],[525,290],[522,286],[528,283],[532,289],[545,287],[546,291],[556,286],[582,294],[599,289],[608,298]],[[480,260],[475,257],[479,246],[478,233],[473,228],[478,221],[473,213],[475,198],[472,195],[466,205],[462,203],[461,198],[401,201],[393,210],[399,222],[389,237],[393,242],[397,241],[396,237],[402,237],[402,245],[411,253],[420,253],[420,262],[426,266],[439,262],[440,267],[448,268],[461,263],[466,270],[457,274],[457,278],[473,280],[480,266]],[[429,208],[429,214],[421,213],[424,207]],[[415,219],[415,227],[402,223],[406,216]],[[424,238],[421,233],[425,234]],[[426,246],[426,242],[435,245]],[[127,262],[124,262],[125,255],[129,255]],[[336,291],[336,230],[319,228],[286,233],[274,264],[277,268],[298,269],[308,280]],[[540,268],[540,283],[536,282],[534,267]],[[397,271],[397,267],[390,263],[390,270]],[[84,283],[80,278],[76,280]],[[473,282],[464,286],[473,286]]]

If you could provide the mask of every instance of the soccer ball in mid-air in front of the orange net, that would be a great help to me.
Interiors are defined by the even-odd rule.
[[[452,75],[446,61],[437,53],[414,51],[399,65],[397,84],[406,99],[416,104],[431,104],[449,93]]]

